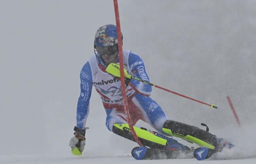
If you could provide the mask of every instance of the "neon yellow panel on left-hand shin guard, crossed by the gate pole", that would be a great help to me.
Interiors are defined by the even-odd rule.
[[[117,124],[117,123],[115,123],[114,126],[116,126],[118,129],[121,129],[121,130],[126,129],[126,130],[129,130],[129,132],[131,131],[128,124]],[[142,138],[142,139],[145,139],[145,140],[148,140],[148,141],[160,144],[160,145],[166,145],[166,142],[167,142],[166,139],[163,139],[161,137],[157,137],[154,134],[150,133],[149,131],[144,130],[144,129],[140,129],[136,126],[133,126],[133,129],[134,129],[136,135],[139,138]]]

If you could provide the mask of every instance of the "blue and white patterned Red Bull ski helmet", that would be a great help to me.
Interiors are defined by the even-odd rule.
[[[123,42],[123,34],[122,42]],[[94,39],[94,48],[98,47],[109,47],[118,44],[117,40],[117,28],[113,24],[106,24],[98,28]]]

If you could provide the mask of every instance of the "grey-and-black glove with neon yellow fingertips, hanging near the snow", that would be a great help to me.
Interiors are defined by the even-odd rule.
[[[71,147],[71,152],[74,155],[82,155],[85,146],[85,131],[89,128],[78,129],[75,126],[74,130],[74,137],[71,138],[69,141],[69,146]]]

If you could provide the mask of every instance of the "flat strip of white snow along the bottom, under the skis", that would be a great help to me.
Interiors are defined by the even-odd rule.
[[[0,158],[1,163],[11,163],[11,164],[165,164],[165,163],[175,163],[175,164],[196,164],[200,161],[196,159],[172,159],[172,160],[135,160],[132,156],[108,156],[108,157],[75,157],[71,155],[67,156],[4,156]],[[256,157],[246,158],[246,159],[233,159],[233,160],[204,160],[203,163],[206,164],[254,164],[256,162]]]

